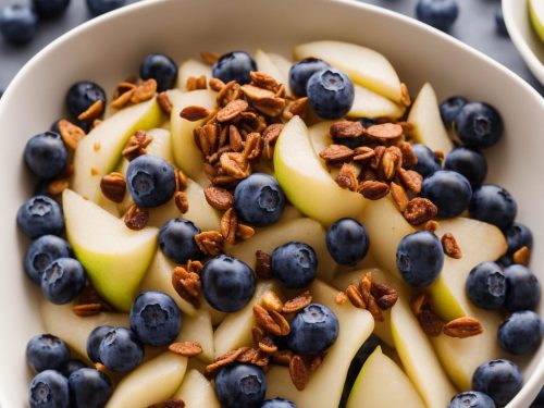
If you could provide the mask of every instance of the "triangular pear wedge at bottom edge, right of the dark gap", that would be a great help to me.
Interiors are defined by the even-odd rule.
[[[384,379],[387,379],[384,381]],[[349,393],[346,408],[421,408],[410,380],[380,346],[370,355]]]

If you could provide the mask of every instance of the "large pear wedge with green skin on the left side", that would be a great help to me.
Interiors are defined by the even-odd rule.
[[[131,310],[137,289],[157,250],[159,231],[133,231],[76,193],[62,195],[67,240],[92,286],[118,310]]]

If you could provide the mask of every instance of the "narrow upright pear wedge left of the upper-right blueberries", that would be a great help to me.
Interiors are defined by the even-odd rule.
[[[413,125],[411,136],[415,141],[426,145],[431,150],[448,153],[454,144],[447,135],[438,110],[438,101],[431,84],[423,85],[408,114]]]

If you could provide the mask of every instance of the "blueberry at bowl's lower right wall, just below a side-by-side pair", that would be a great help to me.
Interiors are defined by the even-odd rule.
[[[500,347],[514,355],[536,351],[542,343],[544,325],[534,311],[523,310],[511,313],[498,327],[497,339]]]

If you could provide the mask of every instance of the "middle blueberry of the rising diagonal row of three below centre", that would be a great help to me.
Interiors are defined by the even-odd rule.
[[[289,289],[308,286],[318,272],[318,257],[312,247],[290,242],[274,249],[270,257],[272,276]]]

